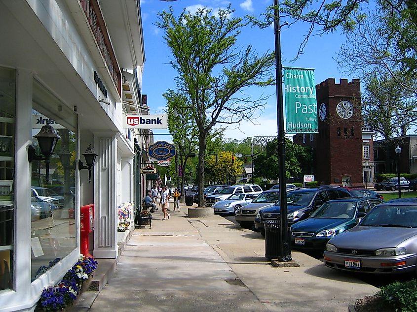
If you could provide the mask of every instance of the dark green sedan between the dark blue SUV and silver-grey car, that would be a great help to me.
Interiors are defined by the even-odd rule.
[[[325,202],[311,216],[291,226],[294,248],[325,250],[334,236],[354,227],[375,205],[383,201],[376,197],[344,197]]]

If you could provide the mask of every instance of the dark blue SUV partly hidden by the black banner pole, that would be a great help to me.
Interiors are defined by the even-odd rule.
[[[303,187],[290,190],[287,193],[287,218],[289,223],[294,223],[310,216],[325,202],[341,198],[352,197],[352,195],[342,187]],[[258,231],[264,229],[264,221],[277,220],[280,217],[279,201],[275,205],[262,209],[255,218],[255,228]]]

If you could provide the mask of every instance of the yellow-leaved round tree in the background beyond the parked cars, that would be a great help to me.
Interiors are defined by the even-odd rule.
[[[217,181],[221,181],[222,184],[235,182],[235,178],[242,175],[243,161],[234,157],[234,153],[230,151],[220,152],[217,155],[217,162],[215,155],[209,156],[207,165]]]

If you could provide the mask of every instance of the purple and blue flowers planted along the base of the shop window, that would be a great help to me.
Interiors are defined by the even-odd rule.
[[[60,311],[71,305],[76,300],[82,283],[93,275],[96,268],[96,260],[80,254],[76,264],[58,284],[43,289],[38,301],[38,310]]]

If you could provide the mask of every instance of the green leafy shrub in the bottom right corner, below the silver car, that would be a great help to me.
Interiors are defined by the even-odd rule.
[[[377,296],[386,300],[395,311],[417,311],[417,281],[393,282],[380,288]]]

